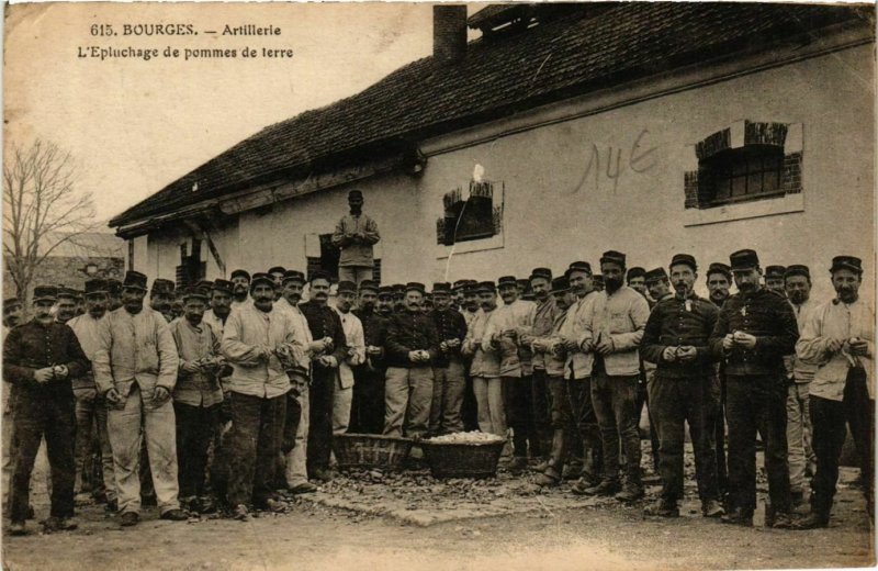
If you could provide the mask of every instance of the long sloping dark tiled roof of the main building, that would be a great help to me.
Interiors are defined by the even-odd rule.
[[[558,5],[558,4],[555,4]],[[874,9],[768,3],[630,2],[480,38],[448,65],[426,57],[368,89],[273,124],[114,217],[167,214],[259,182],[307,176],[547,102],[761,46],[842,21],[874,30]],[[193,184],[198,183],[198,191]]]

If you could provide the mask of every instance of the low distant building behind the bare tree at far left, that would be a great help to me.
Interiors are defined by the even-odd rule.
[[[41,243],[46,248],[58,244],[64,235],[50,234]],[[65,286],[82,291],[91,278],[115,278],[125,272],[125,240],[108,232],[87,232],[64,239],[38,266],[31,287],[43,283]],[[3,299],[15,296],[15,282],[3,266]]]

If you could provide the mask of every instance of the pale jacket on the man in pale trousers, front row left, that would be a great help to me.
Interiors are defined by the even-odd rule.
[[[151,400],[156,387],[173,390],[179,357],[162,314],[144,306],[132,315],[119,307],[102,321],[101,345],[92,362],[101,394],[115,387],[127,396],[135,382],[145,401]]]

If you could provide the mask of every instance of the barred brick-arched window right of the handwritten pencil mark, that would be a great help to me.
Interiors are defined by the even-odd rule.
[[[725,149],[698,165],[702,204],[717,206],[784,194],[784,148],[747,145]]]

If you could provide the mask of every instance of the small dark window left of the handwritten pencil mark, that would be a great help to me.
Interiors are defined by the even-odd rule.
[[[443,197],[444,216],[436,222],[439,244],[489,238],[500,232],[500,206],[494,205],[494,182],[470,181],[470,195],[463,200],[458,188]]]

